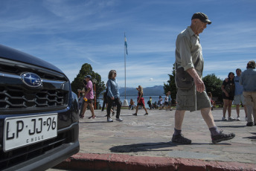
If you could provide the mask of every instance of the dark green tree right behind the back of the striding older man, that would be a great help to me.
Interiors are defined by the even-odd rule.
[[[172,74],[168,74],[170,79],[167,80],[167,83],[164,83],[164,94],[167,94],[170,91],[170,97],[173,99],[172,104],[175,104],[177,89],[175,84],[175,68],[173,64],[173,72]]]

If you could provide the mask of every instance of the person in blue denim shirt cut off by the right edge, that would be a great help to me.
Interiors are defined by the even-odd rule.
[[[243,85],[243,96],[246,99],[247,124],[253,126],[252,114],[256,126],[256,64],[254,60],[247,63],[246,71],[240,77],[240,85]]]

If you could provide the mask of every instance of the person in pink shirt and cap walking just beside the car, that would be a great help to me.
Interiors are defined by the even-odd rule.
[[[93,88],[92,88],[92,77],[90,75],[86,75],[85,76],[85,80],[86,80],[86,91],[85,91],[85,95],[83,96],[86,97],[86,99],[84,100],[83,103],[83,108],[80,111],[80,118],[84,118],[84,113],[86,112],[87,106],[89,106],[91,112],[92,112],[92,116],[89,117],[89,119],[95,119],[95,110],[93,108],[93,100],[94,100],[94,95],[93,95]]]

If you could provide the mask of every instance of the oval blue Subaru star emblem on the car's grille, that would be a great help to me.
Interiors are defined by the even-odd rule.
[[[25,85],[36,88],[42,85],[42,79],[31,72],[25,73],[21,75],[23,83]]]

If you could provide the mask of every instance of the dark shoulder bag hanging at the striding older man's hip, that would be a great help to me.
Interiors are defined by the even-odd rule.
[[[199,57],[197,57],[195,64],[193,65],[196,68],[196,65],[199,62]],[[188,90],[193,87],[193,77],[191,74],[188,74],[187,71],[184,71],[183,67],[178,68],[176,63],[176,86],[180,89]]]

